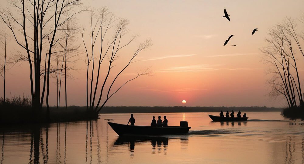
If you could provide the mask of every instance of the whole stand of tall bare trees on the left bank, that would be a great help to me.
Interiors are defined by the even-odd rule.
[[[86,55],[86,105],[87,111],[91,113],[90,117],[97,118],[98,112],[106,102],[126,83],[151,73],[149,67],[143,68],[135,77],[125,80],[123,84],[115,83],[119,75],[135,62],[134,58],[152,45],[151,40],[147,39],[140,43],[131,58],[123,60],[126,64],[117,63],[119,52],[133,43],[138,35],[127,39],[129,33],[127,19],[116,17],[107,7],[90,9],[82,2],[83,0],[13,0],[9,1],[8,7],[0,9],[0,23],[5,26],[3,30],[5,32],[1,31],[1,35],[5,37],[0,40],[0,47],[5,54],[4,60],[1,61],[4,90],[8,64],[12,66],[26,61],[30,72],[32,109],[34,113],[40,113],[46,102],[48,121],[50,121],[50,79],[56,80],[57,108],[60,107],[61,83],[64,79],[65,108],[67,108],[67,78],[73,78],[68,72],[77,70],[75,62],[83,58],[82,54]],[[81,27],[78,25],[80,23],[77,22],[77,16],[86,13],[90,14],[90,19],[88,22],[82,22],[84,25]],[[8,60],[6,46],[11,38],[21,50],[15,50],[16,52],[10,55]],[[128,41],[123,40],[124,38]],[[78,42],[79,39],[82,39],[82,44]],[[81,52],[80,47],[84,47],[85,53]],[[102,65],[107,69],[102,69]],[[118,66],[122,69],[114,72],[113,67]],[[106,73],[104,79],[100,77],[102,72]],[[110,79],[110,73],[113,72],[116,75]],[[114,84],[120,86],[113,87]],[[3,101],[4,103],[6,101],[5,92]]]

